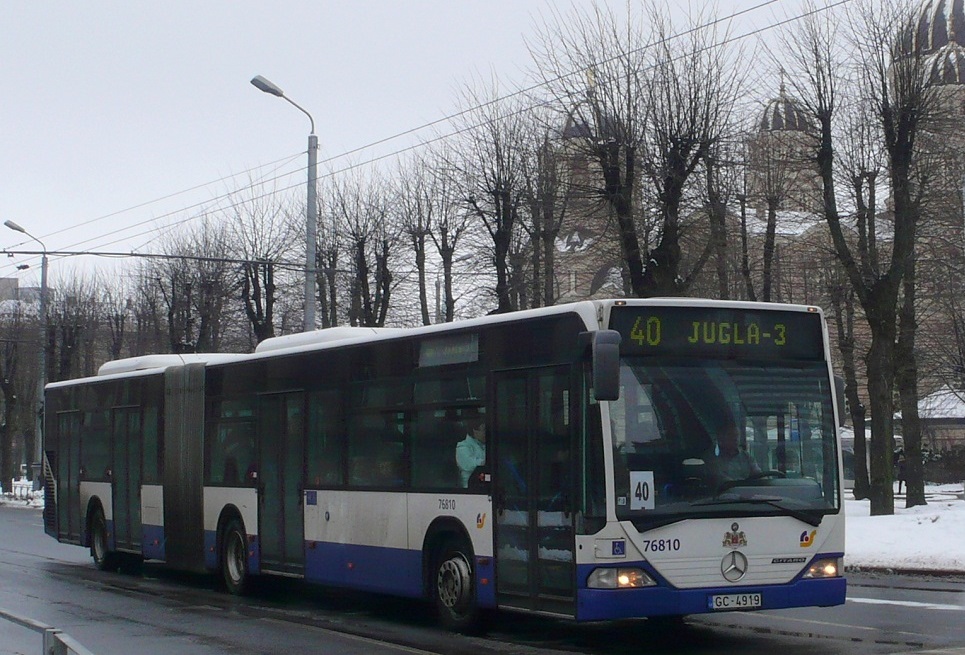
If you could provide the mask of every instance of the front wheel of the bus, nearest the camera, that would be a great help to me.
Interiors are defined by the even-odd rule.
[[[433,596],[439,621],[457,632],[475,632],[482,627],[473,559],[468,543],[450,539],[439,550],[433,566]]]

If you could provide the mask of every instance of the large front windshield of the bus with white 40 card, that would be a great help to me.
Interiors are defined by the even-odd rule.
[[[610,403],[617,517],[794,516],[840,506],[827,365],[624,357]]]

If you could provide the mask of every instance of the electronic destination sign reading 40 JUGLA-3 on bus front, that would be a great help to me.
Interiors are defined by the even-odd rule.
[[[823,357],[821,317],[816,312],[718,307],[614,307],[610,328],[628,355],[724,359]]]

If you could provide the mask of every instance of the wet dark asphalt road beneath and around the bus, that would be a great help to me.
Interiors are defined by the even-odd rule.
[[[411,600],[282,579],[235,598],[211,577],[150,564],[103,573],[86,550],[44,535],[38,510],[10,506],[0,506],[0,608],[60,628],[95,655],[852,655],[965,646],[965,577],[852,574],[843,607],[678,623],[577,625],[501,612],[485,637],[466,637],[439,629],[429,607]],[[0,655],[40,652],[40,635],[0,621]]]

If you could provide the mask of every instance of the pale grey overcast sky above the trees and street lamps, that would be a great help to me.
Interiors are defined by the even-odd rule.
[[[766,4],[721,0],[717,13]],[[772,3],[734,31],[772,24],[799,4]],[[298,171],[279,185],[304,183],[308,118],[256,90],[254,75],[314,115],[323,161],[451,114],[474,74],[494,71],[507,89],[528,85],[525,35],[548,6],[5,0],[0,221],[21,224],[50,251],[151,252],[158,226],[200,213],[199,203],[249,178]],[[153,202],[172,194],[179,195]],[[0,228],[0,248],[35,247]],[[31,259],[3,260],[0,276],[36,284],[36,262],[15,270],[24,262]],[[75,259],[52,260],[51,275],[76,267]]]

